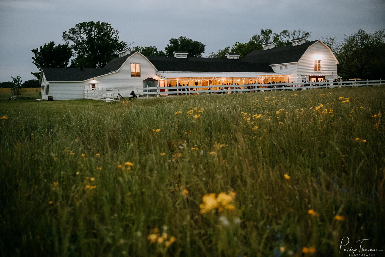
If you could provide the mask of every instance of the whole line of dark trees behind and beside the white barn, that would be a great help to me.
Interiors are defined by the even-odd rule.
[[[254,50],[263,49],[262,45],[275,42],[277,47],[291,45],[290,40],[305,37],[307,41],[311,36],[310,31],[301,29],[282,30],[279,33],[271,29],[260,30],[254,34],[248,42],[235,42],[233,47],[226,46],[216,52],[209,53],[206,57],[226,58],[226,53],[238,53],[244,57]],[[32,72],[38,79],[42,67],[85,67],[102,68],[110,60],[117,57],[117,53],[135,43],[127,44],[119,40],[119,30],[115,30],[107,22],[82,22],[66,30],[62,39],[67,41],[64,44],[49,42],[37,49],[32,49],[34,56],[33,64],[38,72]],[[321,37],[336,55],[340,64],[337,66],[338,75],[344,79],[368,78],[378,79],[385,77],[385,34],[384,30],[375,33],[366,33],[359,30],[350,36],[345,36],[342,42],[336,37]],[[131,47],[133,52],[139,51],[147,56],[173,56],[176,50],[183,50],[189,53],[189,57],[203,57],[205,45],[197,40],[186,36],[172,38],[164,50],[155,46]],[[69,65],[70,64],[70,65]],[[28,83],[27,83],[28,82]],[[5,83],[5,84],[4,84]],[[3,82],[2,87],[8,87],[12,82]],[[36,85],[35,82],[26,81],[25,86]],[[4,84],[4,85],[3,85]]]

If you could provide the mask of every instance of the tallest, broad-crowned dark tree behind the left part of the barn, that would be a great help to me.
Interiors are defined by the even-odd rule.
[[[119,30],[107,22],[78,23],[63,32],[63,40],[74,43],[76,57],[71,67],[102,68],[128,46],[126,41],[119,41]]]

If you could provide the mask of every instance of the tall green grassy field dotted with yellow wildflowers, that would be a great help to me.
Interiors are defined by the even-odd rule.
[[[385,250],[384,88],[8,97],[2,256],[348,256],[343,237]]]

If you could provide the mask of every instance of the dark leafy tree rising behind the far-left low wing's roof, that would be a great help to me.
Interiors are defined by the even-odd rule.
[[[40,50],[37,48],[31,49],[31,51],[35,54],[32,57],[32,63],[39,69],[39,72],[31,73],[38,79],[40,78],[42,67],[65,68],[72,57],[69,42],[55,46],[55,43],[51,41],[48,44],[44,44],[44,46],[40,45]]]

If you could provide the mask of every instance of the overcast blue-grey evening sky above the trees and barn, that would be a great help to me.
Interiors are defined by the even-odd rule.
[[[20,75],[34,79],[31,49],[79,22],[109,22],[131,46],[163,50],[181,35],[210,52],[246,43],[261,29],[311,31],[310,40],[336,36],[341,41],[359,29],[385,29],[383,0],[0,0],[0,82]]]

